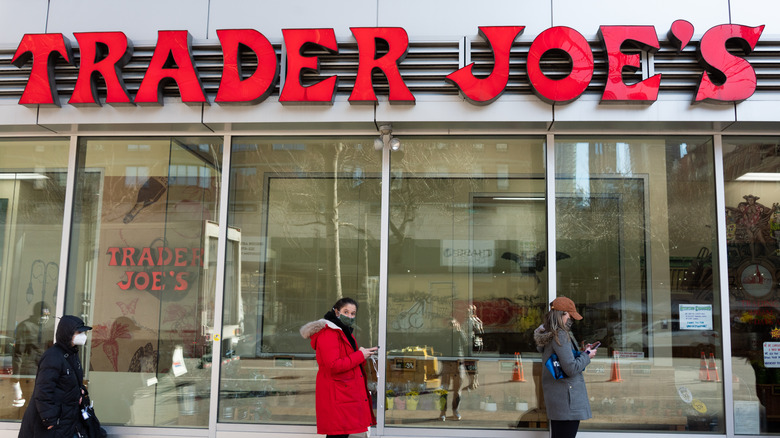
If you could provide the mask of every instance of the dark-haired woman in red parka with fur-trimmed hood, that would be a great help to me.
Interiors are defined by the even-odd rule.
[[[311,339],[317,352],[317,433],[347,438],[375,425],[371,394],[366,388],[363,362],[377,347],[358,347],[352,336],[357,303],[342,298],[325,316],[301,327],[301,336]]]

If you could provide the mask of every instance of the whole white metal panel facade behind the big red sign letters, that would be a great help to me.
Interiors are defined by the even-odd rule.
[[[747,3],[748,6],[744,6]],[[738,2],[729,10],[727,0],[714,2],[692,0],[662,0],[630,7],[625,2],[608,0],[588,3],[575,0],[556,0],[548,2],[485,0],[475,5],[465,0],[337,0],[335,2],[255,2],[251,0],[140,0],[132,7],[125,7],[116,0],[59,0],[51,3],[51,10],[44,7],[47,2],[32,0],[19,3],[18,0],[0,0],[0,11],[7,10],[9,16],[21,17],[18,23],[9,23],[9,29],[0,30],[0,49],[6,47],[8,60],[3,58],[0,73],[10,74],[0,78],[3,84],[13,84],[21,89],[29,75],[30,63],[25,70],[10,66],[10,56],[24,32],[39,32],[40,23],[48,23],[49,32],[61,32],[74,43],[73,32],[121,30],[133,40],[136,47],[146,45],[146,58],[132,61],[134,75],[130,82],[135,87],[143,74],[144,62],[148,63],[157,31],[186,29],[195,38],[194,44],[199,53],[198,69],[209,98],[219,83],[221,74],[221,51],[216,38],[220,28],[253,28],[265,34],[278,48],[282,58],[281,30],[284,28],[328,27],[333,28],[339,42],[340,53],[330,58],[323,57],[322,77],[338,74],[340,77],[339,94],[332,106],[306,105],[285,107],[278,103],[278,91],[265,102],[258,105],[194,105],[178,102],[176,97],[167,98],[163,106],[144,107],[72,107],[63,104],[62,108],[40,109],[18,105],[17,96],[11,96],[7,89],[0,98],[0,132],[17,130],[29,132],[41,129],[41,126],[55,132],[75,132],[76,129],[88,130],[127,130],[134,126],[154,131],[187,129],[194,132],[211,129],[371,129],[374,120],[393,122],[397,128],[415,128],[437,130],[485,129],[496,126],[500,129],[578,129],[583,126],[603,129],[605,123],[623,122],[623,127],[642,129],[641,123],[655,123],[654,128],[664,124],[669,129],[679,129],[679,122],[690,122],[686,129],[720,129],[735,121],[765,121],[774,123],[780,119],[780,88],[771,83],[776,76],[774,70],[780,68],[780,50],[775,56],[775,46],[780,37],[767,36],[769,52],[762,59],[770,64],[759,76],[759,89],[751,99],[737,104],[692,105],[695,84],[694,73],[700,75],[701,67],[695,64],[694,44],[689,44],[685,53],[672,53],[666,42],[666,32],[676,19],[685,19],[695,26],[694,40],[701,33],[717,24],[728,23],[729,13],[733,12],[733,21],[742,24],[767,24],[768,29],[780,30],[780,14],[772,13],[778,9],[773,0]],[[24,14],[16,11],[21,9]],[[764,20],[773,20],[766,22]],[[19,24],[22,23],[22,24]],[[38,24],[35,24],[38,23]],[[661,43],[666,47],[659,52],[651,68],[656,72],[663,70],[665,77],[661,83],[659,100],[651,105],[609,105],[600,103],[600,88],[605,80],[604,56],[598,53],[599,44],[595,39],[598,26],[602,24],[656,26]],[[354,75],[357,71],[355,41],[349,31],[350,26],[400,26],[409,33],[412,47],[407,59],[401,65],[407,85],[415,88],[416,105],[389,105],[386,94],[381,92],[379,104],[351,105],[347,102]],[[464,101],[455,87],[446,84],[444,76],[459,66],[477,60],[481,66],[489,66],[492,55],[486,49],[485,42],[477,37],[480,25],[524,25],[525,32],[517,38],[513,48],[513,67],[510,70],[508,91],[497,101],[477,106]],[[570,104],[549,105],[530,93],[525,77],[524,54],[533,39],[551,25],[571,26],[592,42],[596,51],[597,75],[583,96]],[[208,38],[206,38],[208,37]],[[771,39],[774,38],[774,39]],[[447,47],[437,48],[431,42],[446,42]],[[762,42],[759,42],[761,44]],[[417,44],[417,46],[415,46]],[[456,49],[453,49],[455,45]],[[460,58],[457,46],[460,45]],[[206,46],[203,49],[203,46]],[[203,51],[206,51],[205,55]],[[439,61],[430,54],[436,50],[445,53],[446,61]],[[453,57],[452,51],[455,51]],[[756,50],[758,52],[758,48]],[[136,50],[139,53],[139,50]],[[663,58],[666,67],[660,64]],[[777,58],[777,59],[775,59]],[[453,61],[454,60],[454,61]],[[437,64],[443,62],[442,64]],[[77,71],[75,68],[60,70],[58,66],[58,87],[67,93],[72,88]],[[482,67],[484,69],[484,67]],[[682,69],[682,70],[680,70]],[[127,70],[127,69],[126,69]],[[65,74],[63,80],[59,76]],[[652,74],[653,72],[651,72]],[[208,78],[203,78],[207,74]],[[283,81],[284,71],[281,72]],[[675,79],[677,78],[683,79]],[[675,81],[682,81],[680,86]],[[764,84],[770,83],[770,87]],[[670,87],[671,84],[671,87]],[[2,85],[2,84],[0,84]],[[761,88],[764,86],[764,88]],[[209,88],[211,87],[211,88]],[[666,87],[666,88],[665,88]],[[774,87],[774,88],[773,88]],[[129,87],[131,93],[134,88]],[[380,86],[381,88],[381,86]],[[422,90],[422,91],[421,91]],[[679,92],[676,92],[679,91]],[[12,93],[11,93],[12,94]],[[175,96],[175,93],[169,93]],[[62,96],[67,101],[67,95]],[[738,115],[738,117],[737,117]],[[41,126],[36,126],[36,122]],[[594,123],[597,122],[597,123]],[[638,124],[636,124],[638,123]],[[676,126],[673,124],[677,123]],[[232,125],[229,125],[232,124]],[[629,124],[632,127],[629,127]],[[648,128],[645,125],[644,128]],[[82,131],[83,132],[83,131]]]

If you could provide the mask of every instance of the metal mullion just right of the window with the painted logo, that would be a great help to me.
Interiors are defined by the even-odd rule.
[[[211,396],[209,397],[209,438],[217,436],[217,409],[219,408],[220,370],[222,365],[222,307],[225,293],[225,259],[227,253],[227,215],[230,183],[230,151],[232,137],[222,140],[222,174],[219,188],[219,237],[217,238],[217,276],[214,291],[214,334],[211,338]],[[205,243],[208,245],[208,242]],[[208,263],[208,260],[204,260]]]

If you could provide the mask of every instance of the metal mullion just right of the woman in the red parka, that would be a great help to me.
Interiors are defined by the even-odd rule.
[[[385,434],[385,386],[387,382],[387,263],[390,246],[390,148],[382,148],[382,191],[379,242],[379,367],[376,379],[377,435]]]

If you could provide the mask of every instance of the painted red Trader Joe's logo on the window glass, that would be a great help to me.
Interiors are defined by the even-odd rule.
[[[203,248],[133,248],[111,247],[106,252],[108,266],[138,267],[125,270],[126,278],[117,282],[122,290],[137,289],[163,291],[186,290],[190,273],[187,266],[203,266]]]

